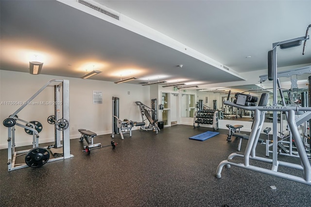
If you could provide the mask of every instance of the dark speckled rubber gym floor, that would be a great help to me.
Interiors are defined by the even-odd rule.
[[[0,206],[105,207],[306,207],[311,186],[232,166],[216,178],[218,164],[238,147],[226,141],[228,130],[205,141],[189,137],[213,131],[174,125],[158,134],[135,130],[132,137],[115,135],[115,149],[82,152],[79,138],[70,140],[72,158],[48,162],[40,168],[7,171],[7,150],[0,150]],[[265,138],[262,135],[260,138]],[[110,135],[94,138],[109,145]],[[242,141],[242,152],[246,141]],[[43,144],[40,146],[48,146]],[[31,147],[17,148],[18,150]],[[265,145],[257,155],[265,157]],[[299,163],[297,158],[279,160]],[[271,164],[251,161],[270,169]],[[279,172],[303,176],[279,167]],[[276,190],[270,187],[275,186]]]

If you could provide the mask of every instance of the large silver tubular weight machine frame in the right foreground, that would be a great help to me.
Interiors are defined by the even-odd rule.
[[[234,104],[228,101],[224,102],[224,104],[226,105],[255,111],[255,117],[254,117],[254,124],[252,126],[251,134],[249,136],[249,140],[247,142],[244,155],[232,153],[231,155],[228,156],[227,160],[220,162],[216,170],[216,174],[215,174],[216,177],[218,178],[221,177],[221,172],[224,166],[229,168],[230,165],[233,165],[236,167],[241,167],[244,169],[248,169],[248,170],[252,170],[252,171],[256,171],[260,173],[266,173],[266,174],[274,175],[274,176],[281,177],[284,179],[292,180],[294,182],[311,185],[311,164],[308,159],[307,153],[305,151],[303,141],[301,140],[300,134],[297,129],[297,126],[301,125],[305,121],[311,120],[311,107],[298,107],[297,105],[296,106],[277,106],[277,80],[278,79],[277,79],[277,62],[276,62],[277,46],[280,46],[282,49],[285,49],[289,47],[298,46],[299,44],[297,43],[299,43],[300,41],[305,41],[304,42],[304,49],[305,49],[306,41],[309,39],[308,30],[310,27],[311,25],[308,26],[305,36],[286,40],[286,41],[276,42],[272,44],[273,45],[273,54],[272,54],[273,55],[273,58],[272,58],[273,66],[272,68],[268,69],[268,78],[269,80],[273,80],[273,105],[272,106],[242,106],[242,105]],[[304,50],[303,50],[303,54],[304,54]],[[309,99],[311,99],[311,97],[309,97]],[[261,128],[262,128],[262,125],[261,126],[259,125],[260,117],[262,119],[262,114],[264,114],[262,112],[264,111],[273,112],[273,146],[272,146],[273,155],[272,155],[272,159],[256,156],[256,146],[257,146],[257,141],[259,138],[259,136],[257,135],[258,133],[260,133]],[[292,132],[292,135],[295,141],[297,152],[301,160],[301,165],[277,160],[277,138],[278,138],[277,137],[277,112],[278,111],[279,112],[283,111],[288,114],[287,121],[288,121],[289,128]],[[304,114],[302,114],[301,116],[295,119],[295,112],[298,112],[298,111],[304,111]],[[236,156],[243,157],[243,163],[232,160],[232,158]],[[269,170],[269,169],[250,165],[249,163],[250,159],[272,163],[272,168],[271,170]],[[278,165],[302,170],[303,177],[298,177],[298,176],[294,176],[294,175],[287,174],[287,173],[277,172]]]

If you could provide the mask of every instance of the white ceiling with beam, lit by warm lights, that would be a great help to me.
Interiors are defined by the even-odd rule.
[[[267,69],[272,43],[311,24],[311,0],[87,1],[120,20],[76,0],[1,0],[0,69],[29,72],[37,58],[49,75],[95,69],[103,72],[91,79],[103,81],[241,85],[259,80],[243,73]],[[278,67],[311,64],[311,40],[302,48],[278,50]]]

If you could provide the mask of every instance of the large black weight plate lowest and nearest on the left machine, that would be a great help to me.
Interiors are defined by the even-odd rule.
[[[38,168],[48,162],[50,153],[44,147],[31,149],[25,156],[25,163],[32,168]]]

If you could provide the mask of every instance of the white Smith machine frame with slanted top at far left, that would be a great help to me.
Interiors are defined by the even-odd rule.
[[[56,83],[56,84],[52,84]],[[23,105],[21,105],[17,111],[15,111],[9,118],[14,119],[16,121],[17,126],[22,127],[24,129],[31,130],[33,132],[33,148],[38,147],[39,145],[39,136],[38,132],[35,129],[35,125],[31,122],[24,121],[20,118],[17,118],[16,115],[20,112],[26,105],[30,104],[34,98],[40,94],[46,87],[54,87],[54,116],[55,120],[61,119],[61,111],[62,111],[62,118],[69,121],[69,80],[57,80],[52,79],[48,83],[46,83],[43,87],[41,87],[30,99],[28,99]],[[60,88],[62,87],[62,91]],[[62,92],[62,99],[61,99],[61,92]],[[60,103],[62,100],[62,107]],[[55,104],[56,103],[56,104]],[[62,109],[62,110],[61,110]],[[21,122],[21,123],[19,123]],[[29,127],[27,125],[31,125]],[[8,127],[8,171],[13,171],[21,168],[28,167],[27,164],[16,164],[16,157],[20,155],[25,155],[29,150],[22,150],[22,151],[15,151],[15,125],[12,127]],[[60,159],[67,159],[73,157],[70,154],[70,130],[69,127],[63,132],[63,145],[61,144],[61,132],[56,130],[55,127],[55,143],[49,148],[59,148],[63,147],[63,156],[55,157],[49,159],[48,162],[60,160]],[[48,147],[46,147],[48,148]]]

